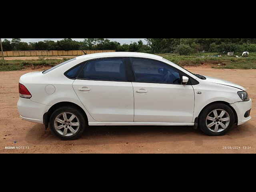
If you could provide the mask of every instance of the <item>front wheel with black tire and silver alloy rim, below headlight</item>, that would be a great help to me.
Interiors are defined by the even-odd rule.
[[[218,118],[216,118],[216,116]],[[225,135],[233,127],[235,122],[235,115],[233,110],[228,105],[223,103],[214,103],[202,110],[198,122],[199,128],[206,135],[222,136]],[[217,126],[218,128],[216,128]]]

